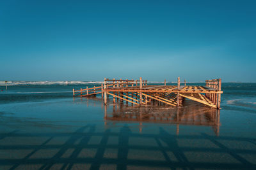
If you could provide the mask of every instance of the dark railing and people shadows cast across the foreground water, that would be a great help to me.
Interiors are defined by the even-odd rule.
[[[72,133],[0,134],[16,140],[0,145],[0,169],[255,169],[256,139],[212,136],[205,133],[177,135],[134,132],[128,124],[97,131],[93,124]],[[40,145],[19,144],[19,138],[42,138]],[[56,138],[62,143],[52,143]],[[2,140],[4,140],[2,139]],[[234,147],[230,143],[243,144]],[[251,145],[250,145],[251,144]],[[244,147],[250,146],[250,147]],[[51,150],[54,150],[51,152]],[[3,155],[3,153],[11,155]],[[21,157],[13,155],[23,152]],[[38,153],[42,154],[38,154]],[[49,152],[45,157],[44,152]]]

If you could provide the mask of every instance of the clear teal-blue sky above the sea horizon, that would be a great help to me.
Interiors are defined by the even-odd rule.
[[[0,80],[256,81],[256,1],[0,1]]]

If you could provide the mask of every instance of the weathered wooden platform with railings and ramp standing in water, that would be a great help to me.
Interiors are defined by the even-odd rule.
[[[187,98],[217,109],[220,109],[222,93],[221,79],[205,80],[205,86],[195,86],[186,85],[186,80],[180,83],[180,78],[178,78],[177,85],[166,85],[166,80],[164,80],[164,85],[148,85],[147,80],[142,80],[142,78],[140,80],[104,78],[104,83],[99,87],[73,89],[73,96],[85,97],[101,94],[105,104],[107,104],[107,98],[112,96],[113,103],[126,101],[139,106],[159,103],[179,107]]]

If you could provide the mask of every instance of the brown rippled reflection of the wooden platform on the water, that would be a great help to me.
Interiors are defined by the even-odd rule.
[[[112,111],[111,108],[113,107]],[[219,136],[220,133],[220,110],[204,106],[188,106],[184,108],[170,108],[164,106],[128,106],[125,104],[105,106],[105,125],[109,121],[138,122],[140,132],[143,122],[161,124],[176,124],[177,135],[179,125],[209,126]]]

